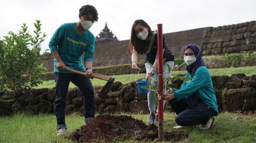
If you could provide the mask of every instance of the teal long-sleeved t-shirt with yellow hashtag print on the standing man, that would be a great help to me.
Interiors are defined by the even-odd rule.
[[[81,35],[77,34],[75,25],[76,23],[60,25],[49,42],[49,48],[51,52],[58,50],[60,58],[67,67],[85,71],[82,54],[85,52],[84,63],[86,61],[93,62],[95,37],[89,30],[85,30]],[[56,64],[54,59],[54,72],[70,73],[66,70],[56,69]]]

